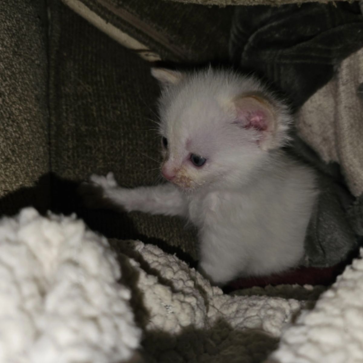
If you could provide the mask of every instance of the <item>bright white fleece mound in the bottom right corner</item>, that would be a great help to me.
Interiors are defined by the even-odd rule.
[[[312,311],[302,311],[271,356],[274,363],[363,361],[363,250]]]

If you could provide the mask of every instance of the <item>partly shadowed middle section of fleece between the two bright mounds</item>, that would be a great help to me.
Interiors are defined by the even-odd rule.
[[[119,254],[122,282],[136,295],[131,303],[144,330],[146,362],[262,362],[276,347],[286,323],[305,306],[273,294],[223,294],[195,269],[156,246],[132,242],[132,249],[125,250],[120,243],[111,246],[124,254]],[[286,294],[291,290],[294,287],[286,286]],[[310,294],[305,289],[303,296]]]

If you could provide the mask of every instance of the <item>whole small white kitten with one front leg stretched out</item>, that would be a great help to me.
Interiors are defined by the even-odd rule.
[[[200,270],[215,284],[297,266],[316,198],[312,170],[281,147],[291,116],[256,79],[232,72],[153,69],[170,183],[126,189],[91,176],[127,211],[187,217],[199,229]]]

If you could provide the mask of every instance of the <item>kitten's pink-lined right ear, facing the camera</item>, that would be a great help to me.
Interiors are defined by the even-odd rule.
[[[283,105],[272,105],[264,97],[243,95],[234,101],[235,125],[256,131],[263,150],[280,147],[287,139],[289,115]]]

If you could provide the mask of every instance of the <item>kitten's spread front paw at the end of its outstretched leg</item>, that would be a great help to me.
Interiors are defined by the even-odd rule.
[[[114,208],[110,199],[110,191],[117,188],[114,174],[109,172],[106,176],[93,174],[90,181],[83,182],[78,188],[83,204],[88,208]]]

